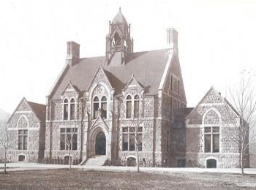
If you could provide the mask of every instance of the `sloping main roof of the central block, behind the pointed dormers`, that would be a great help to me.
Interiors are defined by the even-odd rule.
[[[69,67],[67,73],[59,81],[59,87],[56,88],[53,97],[59,98],[69,80],[82,93],[85,93],[99,64],[115,88],[115,95],[121,94],[121,89],[127,85],[132,75],[146,88],[146,94],[157,94],[168,56],[167,49],[132,53],[127,56],[125,66],[111,66],[111,63],[108,65],[105,56],[81,58],[78,64]]]

